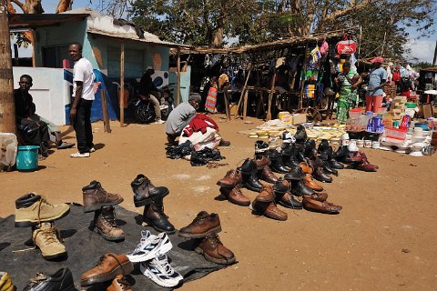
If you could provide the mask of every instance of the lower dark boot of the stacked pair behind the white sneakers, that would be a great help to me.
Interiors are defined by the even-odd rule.
[[[168,221],[168,216],[164,213],[163,198],[158,198],[151,204],[144,207],[143,222],[147,226],[152,226],[158,232],[166,232],[174,234],[176,232],[175,226]]]

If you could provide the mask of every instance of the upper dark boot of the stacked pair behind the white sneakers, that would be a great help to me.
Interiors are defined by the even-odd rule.
[[[154,199],[162,198],[167,196],[169,191],[167,187],[164,186],[154,186],[152,182],[142,174],[139,174],[130,183],[132,191],[134,191],[134,204],[136,207],[147,206]]]

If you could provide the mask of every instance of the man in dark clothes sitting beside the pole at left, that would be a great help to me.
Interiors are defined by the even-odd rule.
[[[40,146],[40,154],[48,156],[48,141],[50,140],[48,127],[44,122],[36,122],[31,118],[33,105],[32,95],[29,94],[32,86],[30,75],[20,76],[20,87],[14,90],[15,119],[18,132],[25,146]]]

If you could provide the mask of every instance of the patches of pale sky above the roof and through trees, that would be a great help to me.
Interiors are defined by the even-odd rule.
[[[75,0],[73,8],[88,6],[90,8],[99,10],[102,0]],[[57,0],[43,0],[43,7],[46,13],[54,13],[56,10],[58,1]],[[17,9],[19,11],[19,9]],[[414,29],[407,30],[410,33],[410,41],[408,46],[411,48],[412,53],[406,55],[407,60],[418,59],[419,62],[432,63],[432,58],[434,56],[434,49],[437,42],[437,24],[433,25],[432,29],[435,31],[431,37],[417,39],[419,35]],[[153,33],[153,32],[151,32]],[[14,55],[14,50],[13,50]],[[20,56],[31,56],[32,50],[20,49]]]

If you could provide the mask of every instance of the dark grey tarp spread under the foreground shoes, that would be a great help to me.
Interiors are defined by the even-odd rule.
[[[94,267],[98,258],[107,253],[126,254],[135,249],[140,239],[141,230],[149,229],[157,234],[149,226],[141,226],[142,217],[135,212],[116,206],[117,224],[122,226],[126,239],[123,242],[108,242],[96,231],[89,229],[94,218],[94,213],[83,212],[82,206],[71,205],[70,214],[55,222],[61,236],[68,256],[57,261],[45,260],[39,249],[23,250],[32,247],[32,231],[30,227],[15,227],[15,216],[7,216],[0,219],[0,271],[7,272],[17,290],[23,290],[28,280],[36,276],[36,273],[43,272],[45,275],[54,274],[61,267],[68,267],[73,273],[76,287],[80,288],[80,276],[88,269]],[[171,221],[171,217],[170,217]],[[201,255],[193,251],[196,240],[185,239],[177,234],[170,235],[173,248],[168,252],[170,265],[173,266],[182,276],[184,282],[198,279],[208,273],[224,267],[205,260]],[[139,271],[138,264],[129,277],[134,290],[164,290],[156,285]],[[107,282],[110,284],[110,282]],[[106,290],[105,285],[94,286],[93,290]]]

